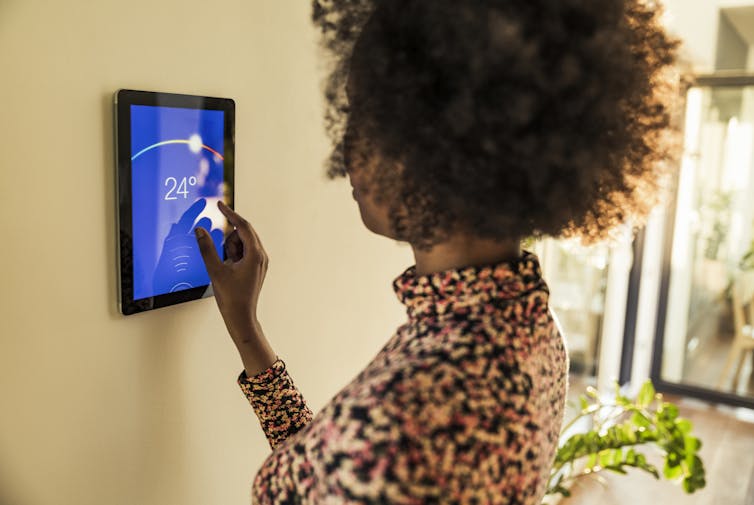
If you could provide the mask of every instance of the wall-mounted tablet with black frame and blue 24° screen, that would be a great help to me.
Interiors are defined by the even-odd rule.
[[[194,228],[220,257],[233,207],[235,103],[122,89],[115,93],[118,301],[124,315],[212,296]]]

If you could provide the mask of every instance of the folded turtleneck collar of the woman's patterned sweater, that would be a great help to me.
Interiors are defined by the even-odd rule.
[[[416,265],[412,265],[393,281],[393,290],[410,319],[490,312],[496,300],[516,298],[534,289],[547,292],[539,260],[529,251],[513,260],[425,275],[417,275]]]

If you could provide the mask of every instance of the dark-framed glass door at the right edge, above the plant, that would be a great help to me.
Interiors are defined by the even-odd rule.
[[[652,378],[754,407],[754,76],[700,78],[687,94],[669,212]]]

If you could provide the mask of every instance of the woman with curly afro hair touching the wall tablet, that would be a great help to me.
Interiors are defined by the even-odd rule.
[[[393,280],[408,321],[313,416],[256,318],[253,227],[221,206],[226,263],[198,230],[273,448],[254,502],[538,504],[568,360],[519,243],[600,239],[654,203],[676,42],[638,0],[315,0],[313,19],[328,173],[416,264]]]

